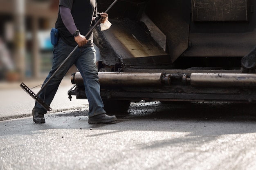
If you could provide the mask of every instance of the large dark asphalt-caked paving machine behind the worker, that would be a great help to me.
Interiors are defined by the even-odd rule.
[[[141,100],[256,102],[255,0],[118,0],[108,14],[110,29],[94,29],[107,112]],[[71,82],[70,99],[86,99],[79,72]]]

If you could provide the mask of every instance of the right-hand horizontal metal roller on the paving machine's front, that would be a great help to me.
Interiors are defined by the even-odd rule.
[[[256,88],[256,74],[243,73],[191,73],[192,86],[205,87],[253,87]]]

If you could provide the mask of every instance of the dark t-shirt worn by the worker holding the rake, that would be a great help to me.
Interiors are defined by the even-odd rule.
[[[59,6],[60,5],[71,9],[76,28],[80,31],[81,35],[86,35],[90,31],[93,17],[95,17],[97,13],[97,0],[60,0]],[[60,38],[64,42],[71,46],[77,45],[73,35],[67,30],[62,21],[60,9],[58,11],[58,19],[55,23],[55,28],[58,29]],[[89,37],[86,37],[89,42],[85,46],[93,45],[92,38],[92,33]]]

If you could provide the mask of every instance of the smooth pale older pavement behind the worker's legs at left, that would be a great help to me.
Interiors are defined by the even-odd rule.
[[[31,88],[34,93],[37,93],[40,90],[40,86],[38,85],[42,83],[43,79],[24,81],[24,84]],[[0,83],[0,120],[12,119],[13,117],[27,117],[31,115],[35,100],[20,88],[19,85],[20,82]],[[72,101],[68,99],[67,91],[72,88],[72,86],[73,84],[70,82],[70,77],[65,77],[51,104],[51,113],[88,106],[88,101],[85,99],[76,99],[74,96],[72,97]]]

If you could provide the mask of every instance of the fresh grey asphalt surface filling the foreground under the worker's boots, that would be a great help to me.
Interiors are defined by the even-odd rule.
[[[9,108],[25,116],[0,121],[0,170],[256,169],[254,105],[132,103],[114,124],[90,125],[88,104],[56,97],[45,124],[22,111],[29,102]]]

